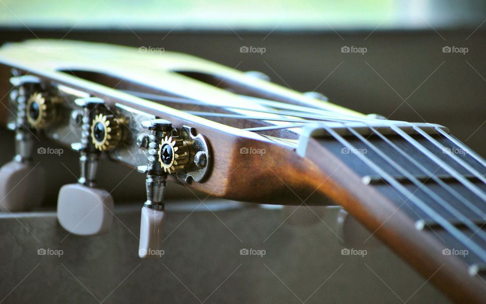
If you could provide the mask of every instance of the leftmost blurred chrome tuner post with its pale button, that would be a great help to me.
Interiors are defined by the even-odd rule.
[[[10,83],[14,86],[10,98],[17,107],[15,157],[0,168],[0,210],[23,211],[39,205],[44,196],[44,170],[32,164],[35,130],[31,120],[43,113],[37,109],[41,102],[37,98],[45,99],[35,76],[15,76]]]

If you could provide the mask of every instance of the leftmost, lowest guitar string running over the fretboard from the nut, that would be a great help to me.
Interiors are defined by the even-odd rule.
[[[326,131],[331,134],[336,140],[338,140],[342,145],[346,146],[348,149],[355,149],[353,145],[351,145],[348,141],[346,141],[342,136],[336,133],[333,129],[328,127],[325,124],[322,124],[322,127],[326,129]],[[407,200],[412,198],[412,202],[422,209],[423,212],[428,214],[434,221],[436,221],[439,225],[441,225],[444,229],[446,229],[452,236],[454,236],[459,242],[463,243],[466,247],[468,247],[471,251],[473,251],[479,258],[486,262],[486,251],[483,248],[478,246],[475,242],[467,244],[469,239],[466,235],[464,235],[461,231],[459,231],[456,227],[454,227],[451,223],[449,223],[446,219],[444,219],[440,214],[435,212],[432,208],[427,206],[421,199],[417,198],[413,193],[411,193],[407,188],[403,187],[399,182],[393,179],[386,171],[384,171],[380,166],[376,163],[371,161],[368,157],[362,154],[354,154],[358,158],[360,158],[363,162],[365,162],[371,169],[378,173],[379,176],[387,180],[387,182],[392,185],[395,189],[400,191],[404,196],[407,197]]]

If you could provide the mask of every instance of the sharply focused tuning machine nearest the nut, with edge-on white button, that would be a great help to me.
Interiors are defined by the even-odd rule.
[[[162,245],[162,226],[165,220],[164,192],[166,179],[173,174],[188,182],[204,178],[209,167],[209,149],[202,135],[192,135],[192,129],[174,128],[165,119],[142,123],[145,132],[137,138],[139,147],[148,148],[147,164],[138,167],[146,174],[147,200],[142,207],[140,222],[140,257],[159,257]],[[197,180],[196,180],[197,179]]]

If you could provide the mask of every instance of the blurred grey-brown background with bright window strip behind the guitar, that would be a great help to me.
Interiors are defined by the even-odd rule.
[[[331,102],[363,113],[446,125],[486,157],[484,23],[484,0],[0,0],[2,44],[57,38],[152,48],[161,56],[183,52],[242,71],[261,71],[276,83],[323,93]],[[265,51],[245,53],[243,47]],[[13,157],[13,133],[2,129],[0,137],[4,147],[0,161],[5,163]],[[65,150],[60,157],[37,155],[35,161],[48,168],[45,205],[53,209],[59,188],[76,180],[77,154]],[[44,247],[59,247],[66,239],[60,246],[67,252],[61,257],[62,267],[57,260],[45,263],[35,254],[39,246],[19,220],[0,221],[7,231],[1,241],[13,244],[12,250],[0,255],[4,261],[0,270],[18,273],[2,281],[0,296],[23,281],[37,260],[43,269],[10,291],[5,302],[21,302],[20,298],[89,302],[93,297],[101,301],[107,294],[105,302],[193,302],[209,294],[208,302],[235,302],[237,297],[238,302],[298,303],[312,291],[309,303],[446,301],[384,246],[368,249],[370,255],[363,260],[339,254],[342,244],[330,243],[336,241],[336,216],[329,213],[322,216],[322,223],[293,226],[282,225],[286,215],[279,209],[262,211],[246,205],[238,212],[215,211],[216,218],[210,212],[189,213],[192,208],[175,210],[168,215],[167,231],[175,233],[166,243],[165,259],[156,266],[139,264],[135,252],[144,176],[129,173],[130,169],[101,163],[100,187],[113,191],[116,205],[127,200],[139,203],[118,215],[121,221],[115,221],[108,235],[67,237],[54,213],[21,218],[22,226]],[[129,177],[120,183],[114,175]],[[188,204],[199,203],[183,186],[169,185],[167,197],[169,202],[186,197],[191,200]],[[263,244],[269,234],[273,236]],[[240,256],[235,252],[242,243],[267,249],[265,267],[260,260],[248,259],[241,260],[244,266],[239,269]],[[342,270],[317,288],[341,263]],[[147,280],[160,286],[148,293],[143,284]],[[124,285],[116,290],[118,283]],[[219,290],[218,284],[222,284]],[[289,290],[295,290],[296,298]]]

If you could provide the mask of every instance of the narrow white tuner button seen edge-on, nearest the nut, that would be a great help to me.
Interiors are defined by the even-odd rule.
[[[155,258],[163,255],[162,226],[166,212],[142,207],[142,219],[140,222],[140,245],[138,255],[143,258]]]

